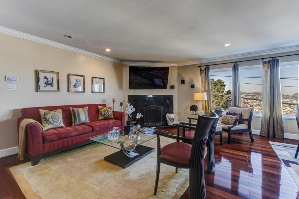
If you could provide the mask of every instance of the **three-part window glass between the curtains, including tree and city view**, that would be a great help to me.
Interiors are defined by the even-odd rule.
[[[298,104],[299,62],[280,63],[280,84],[283,114],[295,115]],[[210,70],[212,108],[227,110],[231,106],[231,68]],[[242,107],[254,107],[262,112],[263,70],[262,65],[239,68]]]

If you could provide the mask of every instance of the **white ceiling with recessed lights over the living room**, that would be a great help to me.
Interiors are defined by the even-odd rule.
[[[1,0],[0,26],[121,61],[182,63],[298,46],[298,7],[298,0]]]

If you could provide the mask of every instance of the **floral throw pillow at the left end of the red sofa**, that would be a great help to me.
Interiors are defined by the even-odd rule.
[[[42,126],[44,130],[65,127],[62,121],[61,109],[54,111],[39,109],[39,113],[42,116]]]

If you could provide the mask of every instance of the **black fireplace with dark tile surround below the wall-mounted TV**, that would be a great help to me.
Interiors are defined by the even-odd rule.
[[[128,95],[128,101],[136,109],[133,120],[143,115],[137,120],[142,127],[167,126],[166,114],[173,113],[173,95]]]

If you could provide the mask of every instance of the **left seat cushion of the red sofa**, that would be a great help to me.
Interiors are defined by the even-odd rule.
[[[43,143],[53,142],[63,138],[69,138],[76,135],[90,133],[91,127],[80,124],[76,126],[61,127],[56,129],[49,129],[42,134]]]

